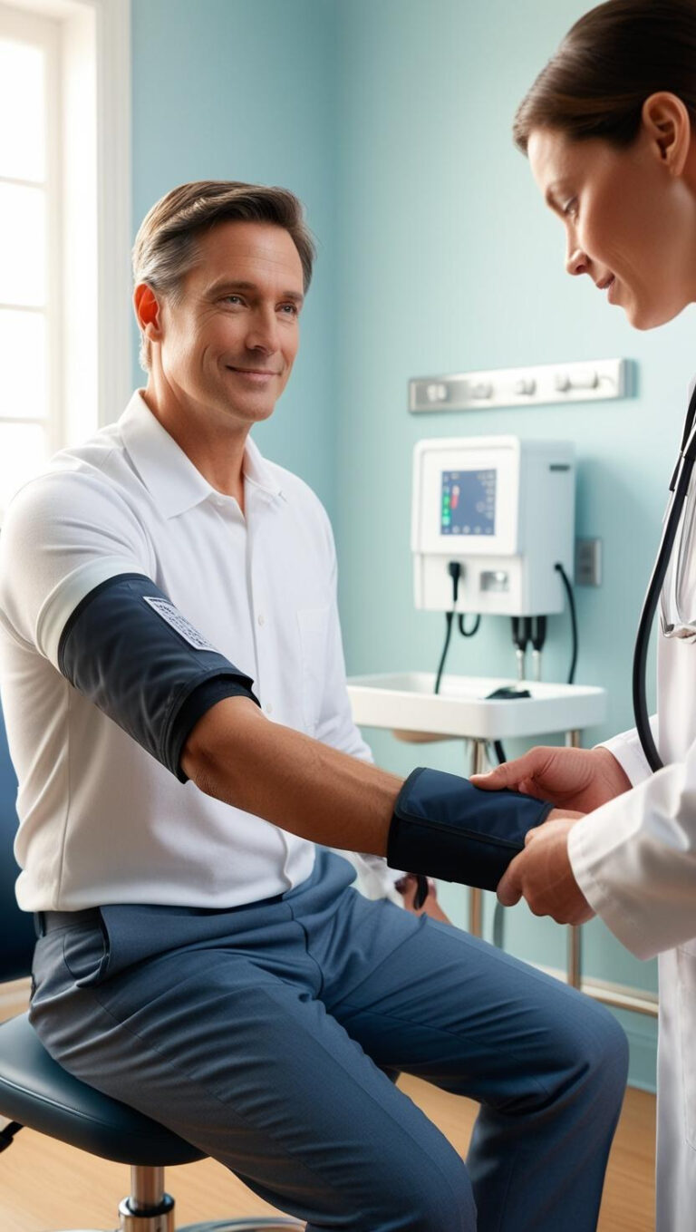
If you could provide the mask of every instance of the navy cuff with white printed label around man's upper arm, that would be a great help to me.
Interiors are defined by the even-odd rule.
[[[63,675],[181,781],[197,721],[251,679],[219,654],[140,573],[108,578],[70,615],[58,646]]]

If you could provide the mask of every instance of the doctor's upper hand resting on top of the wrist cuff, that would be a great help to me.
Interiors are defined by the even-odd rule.
[[[471,776],[474,787],[500,791],[510,787],[557,808],[591,813],[631,787],[609,749],[567,749],[557,745],[530,749],[515,761],[505,761],[489,774]]]

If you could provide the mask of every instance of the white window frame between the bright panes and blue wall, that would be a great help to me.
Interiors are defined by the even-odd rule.
[[[132,393],[131,0],[0,4],[17,30],[49,18],[59,43],[53,86],[60,107],[47,133],[48,159],[60,164],[47,166],[58,186],[57,200],[47,202],[47,225],[53,244],[58,240],[53,251],[62,254],[49,261],[47,288],[62,326],[51,331],[48,356],[53,452],[112,423]],[[70,192],[85,161],[85,132],[94,163],[90,185]],[[89,277],[75,282],[71,253],[85,237],[94,261]]]

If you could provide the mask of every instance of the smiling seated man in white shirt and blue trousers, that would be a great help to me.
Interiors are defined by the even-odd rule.
[[[367,901],[325,850],[415,849],[393,841],[411,788],[351,721],[326,515],[249,437],[292,371],[310,272],[291,193],[170,192],[134,248],[147,388],[12,504],[2,691],[18,897],[42,934],[32,1021],[65,1068],[310,1232],[589,1232],[626,1078],[613,1019]],[[452,829],[419,833],[442,851]],[[482,1103],[466,1167],[402,1069]]]

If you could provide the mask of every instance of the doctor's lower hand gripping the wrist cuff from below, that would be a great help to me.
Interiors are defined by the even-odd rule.
[[[525,850],[498,882],[504,907],[525,898],[533,915],[551,915],[557,924],[585,924],[593,918],[568,859],[568,834],[581,819],[583,813],[554,809],[543,825],[527,832]]]

